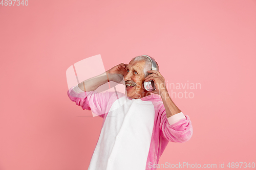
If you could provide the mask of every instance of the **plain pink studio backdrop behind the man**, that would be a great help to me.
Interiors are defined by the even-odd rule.
[[[88,168],[102,119],[68,98],[66,70],[98,54],[105,69],[147,54],[166,82],[201,84],[173,99],[194,134],[159,163],[256,163],[255,21],[249,0],[1,5],[0,169]]]

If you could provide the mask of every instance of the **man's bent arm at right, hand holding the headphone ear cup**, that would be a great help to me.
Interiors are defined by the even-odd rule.
[[[173,142],[185,142],[189,140],[193,134],[191,121],[187,115],[184,115],[181,110],[170,99],[169,93],[165,86],[165,80],[159,71],[149,70],[151,75],[145,78],[145,81],[153,80],[156,89],[153,93],[161,96],[163,106],[160,107],[161,114],[160,129],[163,136]]]

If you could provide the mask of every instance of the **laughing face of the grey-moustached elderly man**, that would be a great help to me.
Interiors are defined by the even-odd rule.
[[[124,76],[126,85],[127,96],[133,99],[140,99],[146,93],[146,90],[142,87],[144,82],[144,68],[145,61],[131,61],[127,65],[127,72]],[[132,85],[132,86],[131,86]]]

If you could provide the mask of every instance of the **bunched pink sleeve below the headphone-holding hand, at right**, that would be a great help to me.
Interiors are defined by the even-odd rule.
[[[163,105],[160,108],[159,114],[161,114],[160,130],[167,140],[182,143],[191,138],[193,128],[187,115],[185,115],[184,118],[179,119],[178,122],[170,125],[168,122],[170,117],[167,119]]]

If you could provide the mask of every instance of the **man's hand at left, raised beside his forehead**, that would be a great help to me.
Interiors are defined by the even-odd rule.
[[[106,74],[108,74],[109,81],[120,83],[123,80],[123,76],[126,75],[127,65],[128,64],[121,63],[106,71]]]

